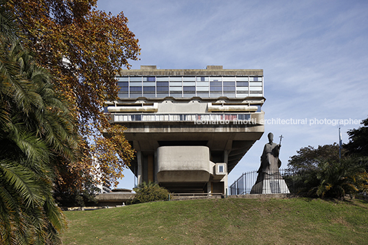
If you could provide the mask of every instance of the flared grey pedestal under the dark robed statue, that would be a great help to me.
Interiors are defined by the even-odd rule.
[[[290,191],[279,172],[274,174],[260,173],[262,177],[253,185],[251,194],[289,194]]]

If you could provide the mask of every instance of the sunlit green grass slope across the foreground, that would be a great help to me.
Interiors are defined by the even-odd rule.
[[[363,200],[185,200],[65,215],[64,244],[368,244]]]

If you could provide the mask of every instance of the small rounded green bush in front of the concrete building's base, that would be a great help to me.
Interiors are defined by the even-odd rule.
[[[136,204],[142,202],[153,202],[158,200],[168,200],[170,192],[164,187],[160,187],[157,183],[141,183],[135,191],[135,197],[129,204]]]

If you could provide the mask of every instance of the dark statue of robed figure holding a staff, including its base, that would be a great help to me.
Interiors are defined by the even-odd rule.
[[[268,134],[268,143],[264,145],[261,156],[261,166],[257,171],[257,181],[253,185],[251,194],[287,194],[290,193],[285,180],[279,173],[281,161],[279,159],[279,152],[281,148],[280,143],[273,142],[273,133]]]

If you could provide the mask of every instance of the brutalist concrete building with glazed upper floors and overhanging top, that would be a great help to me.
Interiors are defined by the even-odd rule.
[[[137,183],[226,194],[228,174],[264,133],[263,70],[141,66],[117,80],[107,111],[128,128]]]

